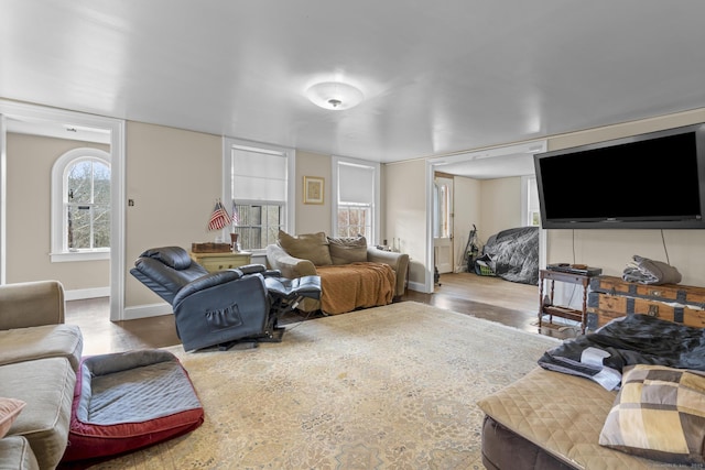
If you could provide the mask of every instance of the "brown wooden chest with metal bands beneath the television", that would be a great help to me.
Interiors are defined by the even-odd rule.
[[[629,314],[705,328],[705,287],[637,284],[597,276],[590,281],[587,307],[588,330]]]

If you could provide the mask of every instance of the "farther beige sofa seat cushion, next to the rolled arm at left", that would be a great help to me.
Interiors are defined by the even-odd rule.
[[[66,358],[74,370],[78,370],[83,347],[80,329],[75,325],[0,330],[0,365],[43,358]]]

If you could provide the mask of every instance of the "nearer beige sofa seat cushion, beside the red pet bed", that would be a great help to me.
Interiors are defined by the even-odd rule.
[[[0,396],[26,403],[8,433],[22,435],[41,468],[56,468],[66,449],[76,373],[66,358],[0,367]]]

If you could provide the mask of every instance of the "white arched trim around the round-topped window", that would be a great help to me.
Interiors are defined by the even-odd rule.
[[[51,252],[52,263],[64,263],[74,261],[96,261],[109,260],[110,248],[99,248],[95,250],[66,251],[66,230],[64,225],[64,175],[66,168],[74,162],[83,159],[98,159],[102,161],[112,174],[110,154],[105,150],[95,147],[72,149],[56,159],[52,166],[52,225],[51,225]],[[112,217],[112,215],[111,215]],[[112,242],[111,242],[112,244]]]

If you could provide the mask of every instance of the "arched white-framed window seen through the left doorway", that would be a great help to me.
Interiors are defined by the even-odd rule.
[[[74,149],[52,168],[52,261],[110,255],[110,154]]]

